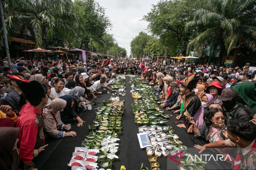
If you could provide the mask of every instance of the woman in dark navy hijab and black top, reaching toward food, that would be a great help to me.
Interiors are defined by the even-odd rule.
[[[67,102],[66,107],[63,109],[63,111],[60,112],[61,120],[63,120],[64,123],[68,123],[75,119],[78,121],[77,126],[82,126],[85,121],[83,121],[75,112],[75,106],[73,107],[74,97],[69,95],[64,95],[64,96],[61,96],[60,98]]]

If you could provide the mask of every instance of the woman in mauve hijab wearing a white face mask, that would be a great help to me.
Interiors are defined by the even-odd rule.
[[[196,127],[200,128],[203,124],[203,118],[205,113],[208,112],[209,105],[213,104],[213,95],[211,94],[203,94],[201,96],[201,106],[196,111],[196,114],[194,115],[194,121],[196,123]]]

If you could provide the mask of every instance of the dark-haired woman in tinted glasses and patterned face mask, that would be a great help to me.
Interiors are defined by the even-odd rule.
[[[209,143],[226,139],[226,119],[221,109],[209,110],[200,128],[196,127],[194,120],[190,121],[190,123],[193,124],[195,136],[204,137]]]

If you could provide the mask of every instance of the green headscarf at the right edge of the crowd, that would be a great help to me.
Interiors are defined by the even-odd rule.
[[[233,87],[243,102],[256,113],[256,96],[254,82],[243,82]]]

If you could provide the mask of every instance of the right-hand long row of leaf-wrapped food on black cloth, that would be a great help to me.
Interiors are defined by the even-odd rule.
[[[145,81],[136,81],[138,77],[131,77],[130,84],[132,85],[132,96],[134,102],[132,104],[135,123],[143,125],[139,127],[139,133],[147,133],[152,147],[146,147],[147,155],[149,156],[150,170],[160,170],[160,164],[157,162],[157,157],[167,157],[169,153],[174,155],[180,151],[187,154],[182,156],[188,157],[187,147],[182,145],[178,140],[178,135],[174,133],[171,126],[166,126],[169,115],[164,114],[163,111],[157,106],[160,104],[155,92],[148,83]],[[135,96],[135,97],[134,97]],[[139,96],[139,98],[138,98]],[[157,103],[156,103],[157,102]],[[186,160],[186,159],[185,159]],[[184,162],[183,166],[179,169],[204,169],[206,162]],[[141,167],[141,170],[147,169]]]

